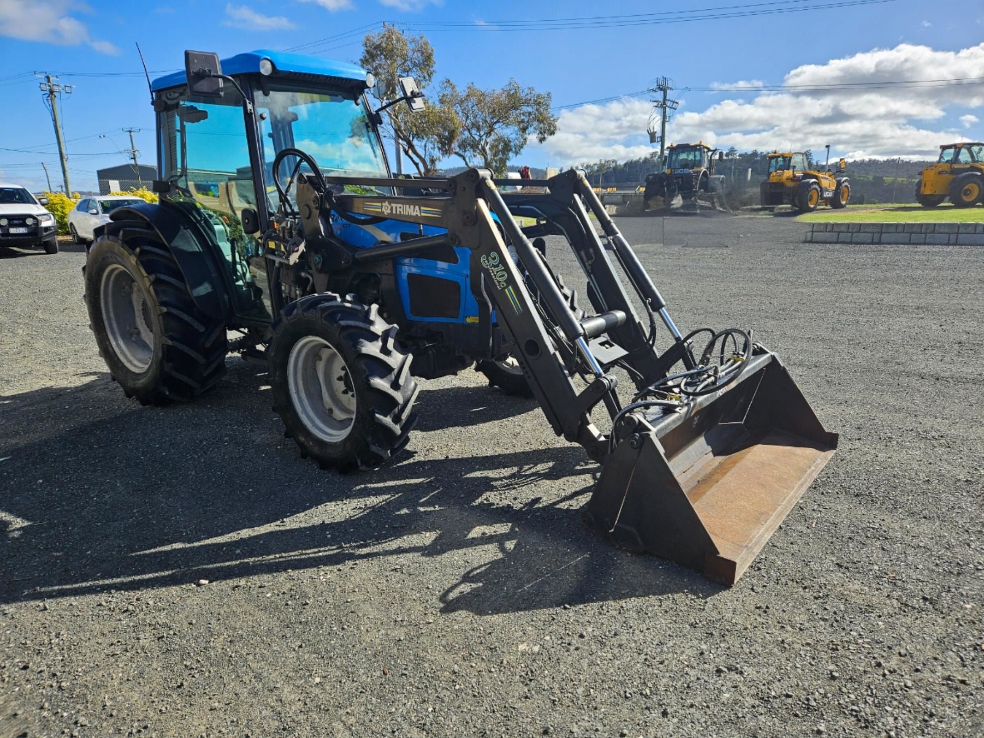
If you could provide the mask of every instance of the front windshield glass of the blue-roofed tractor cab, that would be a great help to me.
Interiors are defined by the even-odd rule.
[[[268,184],[272,183],[274,157],[288,147],[311,154],[326,175],[390,176],[361,96],[352,92],[258,91],[256,108]],[[285,183],[293,161],[288,159],[284,164],[278,173]]]

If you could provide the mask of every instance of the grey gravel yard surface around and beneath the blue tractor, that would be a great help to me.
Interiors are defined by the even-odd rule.
[[[621,225],[681,327],[754,327],[841,434],[730,589],[594,538],[581,449],[474,372],[339,477],[255,365],[125,400],[84,255],[0,257],[0,736],[984,733],[984,249]]]

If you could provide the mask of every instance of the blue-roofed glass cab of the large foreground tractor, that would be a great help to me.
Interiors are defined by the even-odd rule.
[[[400,82],[416,90],[409,78]],[[185,71],[154,81],[155,189],[214,237],[231,307],[244,322],[269,323],[277,310],[258,240],[277,211],[277,154],[312,154],[325,176],[391,176],[378,111],[366,94],[374,86],[373,75],[355,65],[267,50],[220,64],[214,54],[190,51]],[[417,97],[410,95],[420,104]],[[294,156],[282,157],[280,180],[287,182],[297,164]],[[338,187],[339,193],[369,189]],[[392,188],[379,192],[392,194]]]

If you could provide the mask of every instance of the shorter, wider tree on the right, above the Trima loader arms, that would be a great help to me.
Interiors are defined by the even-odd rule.
[[[503,176],[514,156],[532,136],[543,143],[557,133],[557,117],[550,112],[550,93],[523,88],[510,80],[500,90],[480,90],[469,84],[463,91],[445,80],[439,104],[458,120],[454,137],[442,142],[443,154],[458,156],[465,166],[481,165]]]

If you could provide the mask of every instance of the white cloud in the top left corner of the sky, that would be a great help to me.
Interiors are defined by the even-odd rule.
[[[77,46],[88,43],[100,54],[118,54],[109,41],[93,39],[72,11],[91,12],[85,3],[74,0],[0,0],[0,35],[25,41]]]

